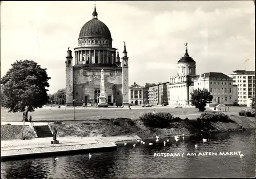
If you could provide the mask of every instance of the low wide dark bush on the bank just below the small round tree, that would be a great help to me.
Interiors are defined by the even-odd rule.
[[[227,114],[218,111],[205,111],[197,118],[197,121],[201,123],[232,122]]]

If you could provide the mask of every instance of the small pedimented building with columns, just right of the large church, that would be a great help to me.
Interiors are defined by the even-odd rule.
[[[136,84],[129,87],[129,103],[133,105],[141,105],[144,103],[144,87]]]

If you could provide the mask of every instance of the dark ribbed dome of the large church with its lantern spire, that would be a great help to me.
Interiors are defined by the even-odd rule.
[[[83,25],[78,39],[88,37],[104,37],[112,40],[109,28],[98,19],[96,7],[94,7],[93,19]]]

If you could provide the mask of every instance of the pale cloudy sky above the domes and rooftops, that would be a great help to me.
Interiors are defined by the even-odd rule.
[[[16,60],[34,60],[47,68],[50,94],[65,88],[68,47],[78,47],[94,4],[112,47],[126,43],[129,85],[167,82],[185,42],[197,74],[255,71],[252,1],[20,1],[1,3],[1,77]]]

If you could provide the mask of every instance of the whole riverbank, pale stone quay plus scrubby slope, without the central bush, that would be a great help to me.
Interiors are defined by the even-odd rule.
[[[210,121],[209,123],[187,118],[174,118],[168,128],[146,127],[140,119],[131,120],[129,118],[100,119],[98,121],[73,123],[56,122],[50,124],[50,126],[58,129],[57,139],[60,144],[50,144],[52,138],[20,140],[22,126],[2,125],[2,159],[116,149],[115,142],[149,139],[156,136],[164,138],[183,134],[190,136],[209,133],[209,131],[215,133],[227,132],[240,130],[241,126],[245,130],[255,129],[255,118],[229,115],[228,121]],[[34,138],[34,133],[30,126],[26,126],[26,131],[27,139]],[[13,140],[15,137],[16,140]],[[43,141],[47,142],[42,143]]]

